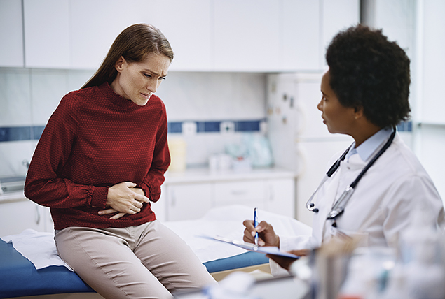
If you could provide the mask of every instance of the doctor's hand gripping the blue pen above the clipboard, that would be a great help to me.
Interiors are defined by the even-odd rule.
[[[244,237],[242,240],[249,243],[255,242],[255,233],[258,232],[259,246],[275,246],[280,248],[280,237],[273,231],[271,224],[266,221],[261,221],[256,229],[253,220],[245,220],[242,224],[246,227],[244,230]]]

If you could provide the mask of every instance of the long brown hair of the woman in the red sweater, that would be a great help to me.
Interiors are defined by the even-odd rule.
[[[173,50],[167,38],[159,29],[150,24],[134,24],[116,37],[107,56],[88,82],[82,88],[111,84],[116,78],[116,61],[122,56],[129,63],[144,60],[146,54],[163,54],[173,60]],[[81,89],[82,89],[81,88]]]

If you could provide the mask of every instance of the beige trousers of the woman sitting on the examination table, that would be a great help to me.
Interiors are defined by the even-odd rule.
[[[172,298],[172,291],[217,284],[190,247],[159,221],[64,228],[55,242],[60,257],[104,298]]]

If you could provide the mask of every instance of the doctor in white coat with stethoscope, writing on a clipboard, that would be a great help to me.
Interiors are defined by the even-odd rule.
[[[258,232],[259,245],[299,256],[336,237],[360,236],[362,246],[397,247],[411,211],[420,208],[443,228],[441,198],[395,129],[410,112],[410,61],[404,50],[381,30],[357,25],[334,37],[326,59],[329,70],[317,108],[330,133],[347,134],[355,142],[331,159],[328,175],[307,203],[315,212],[311,236],[285,238],[266,221],[255,229],[245,220],[244,240],[254,242]],[[294,261],[269,258],[285,269]]]

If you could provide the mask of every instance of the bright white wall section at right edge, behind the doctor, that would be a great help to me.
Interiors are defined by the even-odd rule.
[[[417,0],[416,153],[445,201],[445,1]]]

